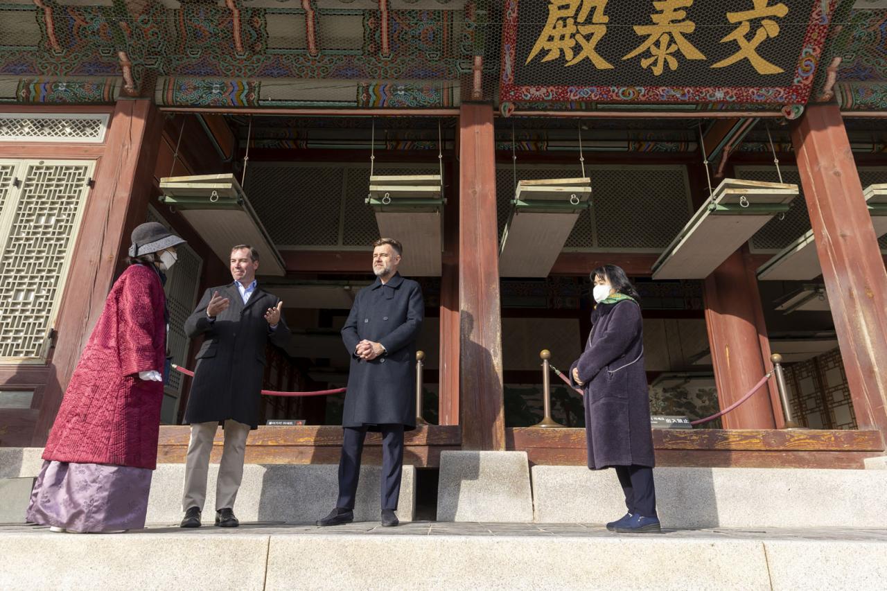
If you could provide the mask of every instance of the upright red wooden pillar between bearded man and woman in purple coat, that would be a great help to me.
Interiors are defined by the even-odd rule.
[[[462,447],[505,449],[493,110],[459,109],[459,379]]]

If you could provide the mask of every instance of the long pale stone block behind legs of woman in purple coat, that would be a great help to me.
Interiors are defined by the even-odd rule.
[[[656,468],[663,527],[887,527],[887,471]],[[538,523],[602,524],[625,513],[612,469],[534,466]]]

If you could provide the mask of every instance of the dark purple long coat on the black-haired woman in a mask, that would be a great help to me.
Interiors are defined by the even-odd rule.
[[[585,382],[588,468],[653,467],[650,398],[644,370],[644,333],[634,300],[599,303],[578,367]]]

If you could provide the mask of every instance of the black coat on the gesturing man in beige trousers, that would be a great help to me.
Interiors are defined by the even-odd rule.
[[[216,291],[219,296],[227,297],[229,304],[213,322],[207,317],[207,306]],[[184,322],[184,332],[189,337],[203,336],[184,422],[233,419],[256,429],[262,398],[259,391],[265,371],[265,344],[271,340],[283,347],[290,339],[283,314],[273,331],[264,318],[265,311],[278,302],[277,296],[258,286],[246,305],[233,283],[204,292],[197,309]]]

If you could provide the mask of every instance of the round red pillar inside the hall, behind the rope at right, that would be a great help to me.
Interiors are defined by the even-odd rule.
[[[745,396],[770,368],[757,279],[742,250],[705,279],[704,298],[718,403],[726,408]],[[725,414],[721,424],[725,429],[775,429],[774,408],[778,404],[773,404],[770,390],[763,387]],[[780,412],[780,422],[781,416]]]

